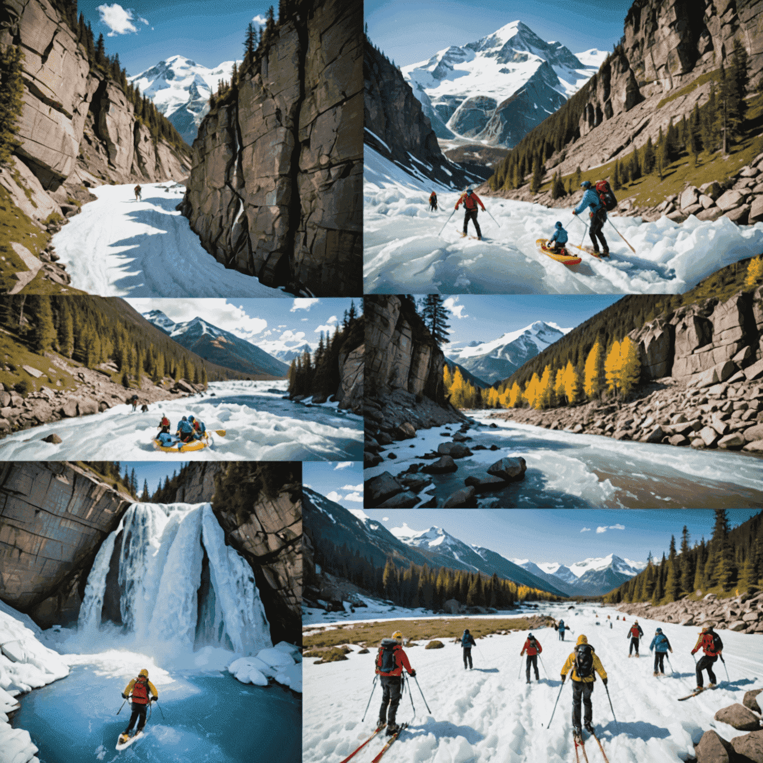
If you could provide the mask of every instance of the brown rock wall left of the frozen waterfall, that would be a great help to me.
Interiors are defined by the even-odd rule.
[[[126,496],[67,462],[0,466],[0,598],[43,628],[76,620]]]

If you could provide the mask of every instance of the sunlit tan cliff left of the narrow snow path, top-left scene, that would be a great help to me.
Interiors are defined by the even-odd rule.
[[[86,201],[86,188],[101,182],[188,175],[187,156],[163,140],[155,146],[149,138],[146,146],[147,130],[135,120],[132,104],[90,69],[75,34],[48,0],[4,3],[0,46],[6,45],[20,45],[25,56],[16,154],[60,214],[67,198]]]

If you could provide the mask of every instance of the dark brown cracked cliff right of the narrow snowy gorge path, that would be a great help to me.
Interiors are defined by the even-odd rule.
[[[305,3],[201,123],[179,209],[226,267],[296,294],[359,294],[361,6]]]

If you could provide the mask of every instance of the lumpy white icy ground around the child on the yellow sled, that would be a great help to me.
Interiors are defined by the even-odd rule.
[[[694,215],[682,224],[667,217],[647,223],[610,215],[636,254],[607,223],[610,260],[581,253],[579,265],[565,266],[539,253],[535,242],[549,238],[561,221],[570,243],[585,237],[590,246],[572,208],[481,197],[493,217],[479,211],[487,240],[478,241],[471,223],[475,238],[461,237],[462,207],[446,224],[459,198],[452,188],[414,179],[370,146],[363,178],[366,294],[682,294],[716,270],[763,252],[763,223],[739,227],[727,217],[702,222]],[[438,194],[436,212],[429,211],[432,190]],[[580,220],[588,224],[588,214]]]

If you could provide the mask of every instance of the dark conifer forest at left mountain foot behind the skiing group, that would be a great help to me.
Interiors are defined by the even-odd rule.
[[[404,567],[391,558],[384,567],[375,566],[372,560],[360,555],[359,549],[353,553],[346,543],[335,546],[326,539],[315,546],[314,558],[332,575],[339,575],[398,607],[441,610],[446,601],[456,599],[467,607],[510,609],[520,601],[559,600],[548,591],[499,578],[496,573],[490,576],[413,562]]]

